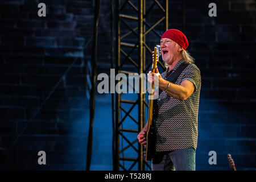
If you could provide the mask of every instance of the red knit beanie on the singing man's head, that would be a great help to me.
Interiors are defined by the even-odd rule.
[[[176,29],[169,29],[162,35],[162,38],[169,38],[174,40],[177,44],[179,44],[181,47],[186,49],[188,47],[188,39],[183,34],[183,32],[176,30]]]

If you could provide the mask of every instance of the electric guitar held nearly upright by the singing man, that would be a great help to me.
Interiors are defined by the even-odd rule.
[[[152,64],[152,73],[155,73],[156,64],[159,60],[160,55],[160,46],[156,46],[154,49],[154,60]],[[146,161],[151,161],[155,155],[155,146],[156,146],[156,126],[153,118],[153,108],[154,108],[154,84],[151,85],[150,90],[150,101],[148,107],[148,129],[147,129],[147,147],[146,147]]]

